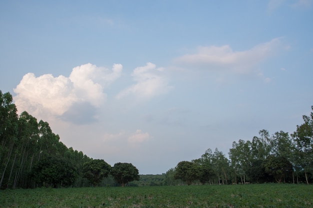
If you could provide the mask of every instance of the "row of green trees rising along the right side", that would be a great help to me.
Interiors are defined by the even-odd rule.
[[[313,106],[311,106],[313,111]],[[228,158],[211,149],[166,172],[167,185],[313,182],[313,112],[292,134],[259,131],[251,141],[232,143]]]

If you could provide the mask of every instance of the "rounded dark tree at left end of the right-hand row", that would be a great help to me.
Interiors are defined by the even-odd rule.
[[[189,186],[194,180],[198,178],[199,169],[195,163],[188,161],[181,161],[175,168],[174,179],[180,179],[186,182]]]

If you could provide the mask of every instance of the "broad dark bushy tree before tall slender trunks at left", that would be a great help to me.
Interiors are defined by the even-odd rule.
[[[68,187],[74,183],[77,170],[67,161],[48,157],[34,166],[31,176],[38,184],[51,185],[53,188]]]

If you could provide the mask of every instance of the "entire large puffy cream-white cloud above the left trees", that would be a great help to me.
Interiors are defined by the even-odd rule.
[[[74,67],[69,77],[53,77],[51,74],[36,77],[27,73],[14,89],[14,102],[19,111],[34,116],[62,116],[67,112],[68,118],[74,114],[70,112],[72,106],[96,108],[101,105],[106,99],[103,88],[116,80],[121,70],[121,64],[114,64],[109,70],[88,63]]]

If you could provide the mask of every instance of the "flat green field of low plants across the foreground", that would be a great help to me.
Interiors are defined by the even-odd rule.
[[[163,186],[0,191],[0,208],[311,208],[313,186]]]

